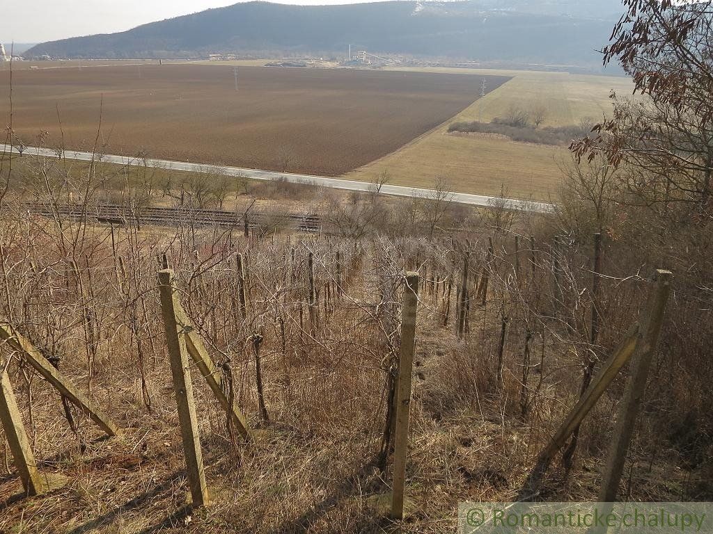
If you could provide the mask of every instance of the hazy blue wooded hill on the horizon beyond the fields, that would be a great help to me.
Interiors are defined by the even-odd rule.
[[[598,62],[619,0],[387,1],[342,6],[248,2],[34,46],[26,57],[169,58],[207,53],[373,53],[533,63]]]

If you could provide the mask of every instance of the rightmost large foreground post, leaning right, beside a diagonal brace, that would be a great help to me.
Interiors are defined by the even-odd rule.
[[[648,309],[641,322],[642,339],[637,343],[636,350],[632,355],[629,383],[619,403],[617,426],[612,436],[609,459],[607,459],[604,468],[602,488],[599,493],[601,503],[612,503],[617,498],[624,462],[644,396],[651,361],[661,333],[664,311],[671,292],[672,276],[671,271],[656,271],[656,286],[650,293]]]

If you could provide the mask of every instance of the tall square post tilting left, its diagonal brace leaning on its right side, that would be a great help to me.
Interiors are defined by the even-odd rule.
[[[185,342],[185,326],[180,324],[176,317],[176,304],[178,301],[175,278],[171,269],[159,271],[158,281],[161,294],[161,313],[168,344],[171,375],[173,375],[173,390],[176,404],[178,404],[178,420],[180,422],[181,436],[185,464],[188,471],[190,494],[193,506],[207,504],[208,495],[205,486],[205,471],[200,450],[200,435],[198,434],[198,417],[195,414],[193,400],[193,385],[190,382],[190,369],[188,367],[188,349]]]

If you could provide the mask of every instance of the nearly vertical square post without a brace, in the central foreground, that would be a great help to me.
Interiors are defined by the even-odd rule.
[[[416,347],[416,307],[419,302],[419,274],[406,273],[404,310],[401,319],[401,350],[399,377],[396,384],[396,434],[394,436],[394,485],[391,496],[391,518],[404,518],[406,489],[406,454],[409,448],[409,416],[411,410],[411,379],[414,372]]]

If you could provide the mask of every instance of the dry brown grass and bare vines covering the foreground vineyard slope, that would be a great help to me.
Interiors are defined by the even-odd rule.
[[[23,183],[36,184],[23,194],[56,203],[71,193],[88,212],[106,193],[103,187],[116,181],[102,175],[108,167],[23,160]],[[26,197],[11,194],[0,201],[0,315],[59,357],[60,370],[124,429],[121,436],[101,439],[75,412],[78,429],[72,431],[56,393],[13,357],[9,372],[41,470],[68,480],[47,495],[24,498],[9,452],[1,447],[0,469],[6,466],[0,474],[1,532],[452,531],[458,501],[510,501],[517,495],[535,455],[578,398],[584,363],[593,351],[605,357],[617,345],[647,290],[638,277],[624,280],[641,268],[642,249],[609,236],[603,267],[611,278],[602,280],[602,328],[593,347],[588,343],[591,275],[583,267],[590,264],[590,243],[562,239],[550,217],[452,209],[441,229],[426,238],[427,201],[383,206],[379,195],[367,194],[322,206],[325,226],[318,235],[256,231],[246,239],[240,228],[198,226],[188,205],[169,229],[138,229],[135,189],[123,193],[128,223],[113,229],[81,217],[35,216],[20,204]],[[334,222],[340,211],[352,214],[349,224]],[[359,239],[347,237],[349,226],[360,225],[365,232]],[[514,236],[520,237],[519,261]],[[688,244],[684,237],[675,244],[682,251],[706,249],[706,241]],[[486,253],[488,238],[492,256]],[[461,339],[453,333],[453,320],[466,247],[470,306]],[[195,511],[187,506],[158,303],[157,256],[164,252],[222,377],[232,377],[237,404],[261,430],[256,445],[233,439],[225,414],[193,370],[213,496],[211,506]],[[237,253],[244,255],[248,274],[245,315],[237,298]],[[314,325],[309,253],[319,290]],[[622,261],[627,254],[632,258]],[[391,481],[389,471],[374,467],[374,459],[386,419],[388,370],[399,345],[406,270],[419,271],[422,281],[406,473],[415,506],[409,520],[391,522],[374,506],[374,497],[389,491]],[[485,273],[489,286],[483,299],[477,294]],[[671,304],[674,320],[662,340],[667,350],[656,362],[656,387],[647,390],[622,487],[634,501],[686,501],[709,496],[713,487],[706,427],[683,424],[685,432],[676,431],[682,423],[670,420],[689,407],[702,410],[707,399],[704,384],[695,382],[707,376],[703,364],[692,364],[706,361],[708,337],[701,329],[693,343],[677,337],[691,337],[680,325],[698,325],[702,304],[707,305],[689,293]],[[510,330],[499,384],[502,315]],[[530,365],[523,359],[528,332]],[[260,354],[269,422],[257,409],[254,333],[264,338]],[[699,360],[690,357],[692,348]],[[10,356],[0,345],[0,360]],[[573,473],[566,477],[555,462],[542,498],[595,498],[624,383],[625,377],[617,379],[585,422]]]

